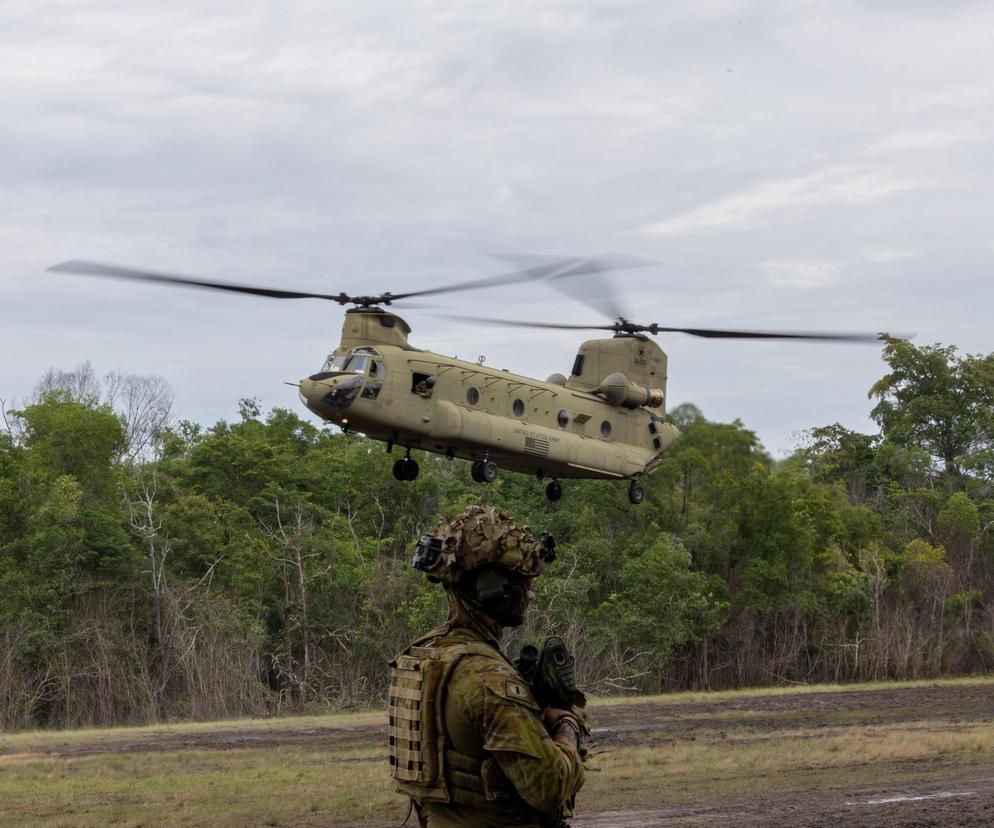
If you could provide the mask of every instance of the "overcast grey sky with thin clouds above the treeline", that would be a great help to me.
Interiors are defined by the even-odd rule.
[[[0,398],[155,373],[211,423],[317,369],[342,309],[65,274],[70,258],[325,292],[613,251],[664,325],[994,350],[994,4],[0,0]],[[544,378],[584,338],[404,312]],[[602,320],[535,284],[463,311]],[[869,430],[876,346],[660,337],[669,400],[775,455]]]

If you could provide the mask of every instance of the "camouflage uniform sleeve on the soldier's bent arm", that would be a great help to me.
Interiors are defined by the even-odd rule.
[[[583,785],[583,762],[572,747],[553,741],[524,680],[496,659],[469,657],[450,692],[483,747],[493,754],[518,795],[543,813],[558,810]]]

